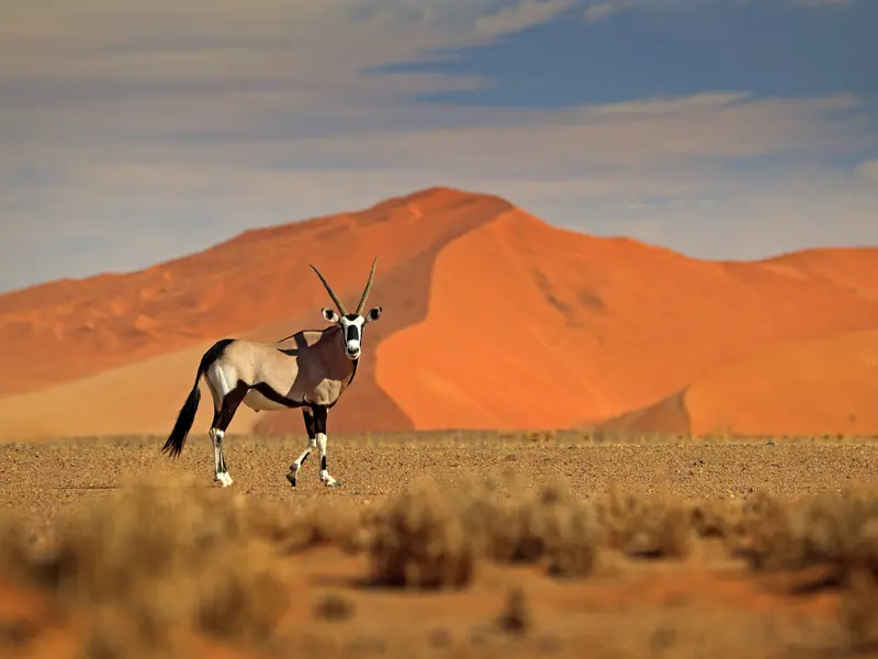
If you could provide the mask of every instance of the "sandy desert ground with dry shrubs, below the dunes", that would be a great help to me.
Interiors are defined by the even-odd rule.
[[[875,439],[161,439],[0,445],[3,657],[878,654]]]

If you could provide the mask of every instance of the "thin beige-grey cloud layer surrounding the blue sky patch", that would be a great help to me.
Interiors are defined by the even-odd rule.
[[[803,165],[875,146],[851,94],[472,108],[412,98],[489,85],[480,76],[371,72],[598,5],[22,3],[0,23],[0,290],[144,267],[250,226],[432,185],[696,254],[786,248],[789,233],[759,237],[766,217],[819,225],[825,212],[848,222],[845,235],[878,233],[856,225],[878,208],[868,166],[854,175]],[[762,159],[780,165],[741,166]],[[698,219],[716,226],[694,231]],[[801,226],[797,239],[825,237]]]

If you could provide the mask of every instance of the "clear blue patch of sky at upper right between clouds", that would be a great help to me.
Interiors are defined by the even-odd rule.
[[[644,3],[645,4],[645,3]],[[661,4],[661,0],[656,2]],[[690,2],[620,11],[587,23],[579,5],[454,62],[384,70],[475,74],[485,90],[426,96],[434,102],[558,107],[705,90],[759,97],[878,96],[878,3]]]

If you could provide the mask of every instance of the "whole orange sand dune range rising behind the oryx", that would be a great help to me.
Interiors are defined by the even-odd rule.
[[[865,403],[876,400],[878,249],[699,260],[432,188],[130,275],[0,295],[4,435],[167,433],[211,343],[323,326],[329,300],[308,264],[353,303],[374,255],[370,301],[384,313],[330,433],[606,420],[878,433]],[[820,386],[802,383],[804,362],[819,364]],[[842,384],[847,394],[830,395]],[[230,431],[248,429],[300,433],[301,413],[241,412]]]

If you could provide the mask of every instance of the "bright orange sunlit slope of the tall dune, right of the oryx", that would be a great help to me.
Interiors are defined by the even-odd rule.
[[[511,209],[439,255],[426,320],[379,347],[376,371],[418,428],[567,426],[755,350],[874,327],[878,304],[825,277],[563,232]]]

